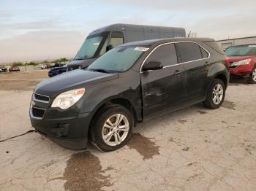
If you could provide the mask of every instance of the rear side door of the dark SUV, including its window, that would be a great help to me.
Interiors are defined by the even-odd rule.
[[[176,43],[178,63],[185,69],[185,101],[203,98],[208,74],[208,52],[195,42]]]

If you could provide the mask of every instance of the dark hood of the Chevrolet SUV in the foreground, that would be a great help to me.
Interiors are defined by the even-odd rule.
[[[40,82],[35,88],[35,92],[42,95],[48,95],[50,98],[53,98],[67,90],[85,87],[91,83],[116,79],[118,76],[119,74],[117,73],[106,74],[78,69],[52,77],[44,82]]]

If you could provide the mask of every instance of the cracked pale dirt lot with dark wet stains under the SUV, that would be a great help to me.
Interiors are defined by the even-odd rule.
[[[222,108],[197,104],[154,118],[135,128],[126,147],[103,153],[64,149],[34,132],[18,136],[31,130],[31,93],[47,73],[4,75],[0,190],[256,188],[256,85],[234,81]],[[1,81],[7,77],[14,80]]]

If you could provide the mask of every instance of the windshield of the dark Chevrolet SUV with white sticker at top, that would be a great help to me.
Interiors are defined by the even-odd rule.
[[[127,71],[148,47],[116,47],[91,63],[89,70]]]

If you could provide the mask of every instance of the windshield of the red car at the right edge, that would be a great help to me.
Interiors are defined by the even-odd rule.
[[[229,47],[225,54],[229,56],[256,55],[256,45]]]

